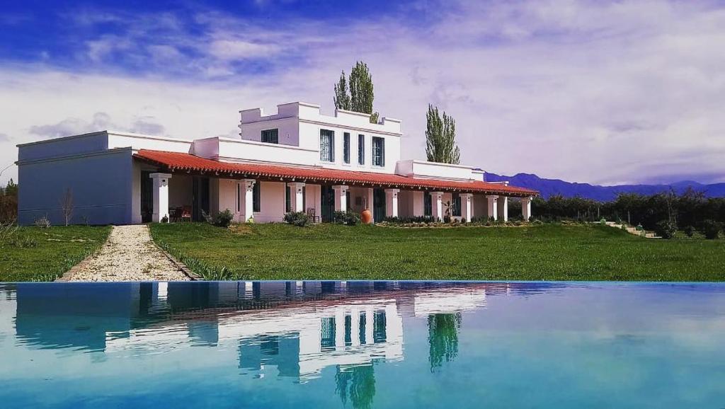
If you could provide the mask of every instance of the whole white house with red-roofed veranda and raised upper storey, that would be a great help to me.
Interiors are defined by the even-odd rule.
[[[471,220],[508,220],[508,198],[531,216],[529,189],[484,182],[470,166],[401,160],[400,121],[370,115],[320,114],[306,102],[265,115],[243,110],[240,138],[183,140],[99,131],[18,145],[19,223],[63,220],[130,224],[169,217],[202,218],[231,210],[236,221],[278,222],[305,211],[331,220],[334,210],[385,217],[447,212]],[[449,208],[450,207],[450,208]]]

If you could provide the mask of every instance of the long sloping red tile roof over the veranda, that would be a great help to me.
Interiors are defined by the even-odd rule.
[[[283,165],[262,165],[259,163],[231,163],[205,159],[193,154],[152,151],[141,149],[133,155],[139,160],[153,163],[170,170],[210,172],[231,178],[274,178],[286,181],[308,183],[341,183],[349,185],[379,186],[402,189],[428,189],[440,191],[461,191],[483,194],[505,194],[507,196],[532,196],[537,191],[501,183],[484,181],[449,181],[442,179],[413,178],[389,173],[357,172],[319,167],[297,167]]]

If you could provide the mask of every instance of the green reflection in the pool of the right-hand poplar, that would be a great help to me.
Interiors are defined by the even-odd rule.
[[[458,355],[459,329],[460,313],[428,315],[428,360],[431,362],[431,371]]]

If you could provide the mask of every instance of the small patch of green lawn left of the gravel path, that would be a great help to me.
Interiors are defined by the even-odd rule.
[[[53,281],[99,249],[110,231],[110,226],[20,227],[1,234],[0,281]]]

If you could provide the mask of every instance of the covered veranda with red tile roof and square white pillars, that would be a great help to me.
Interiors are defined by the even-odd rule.
[[[531,218],[536,191],[473,180],[415,178],[388,173],[268,163],[220,162],[194,154],[141,149],[137,162],[139,220],[178,214],[200,220],[202,211],[230,210],[237,222],[280,222],[286,212],[307,212],[315,222],[334,211],[362,212],[373,220],[445,215],[508,220],[508,200],[521,199],[523,220]],[[136,186],[136,184],[135,184]]]

